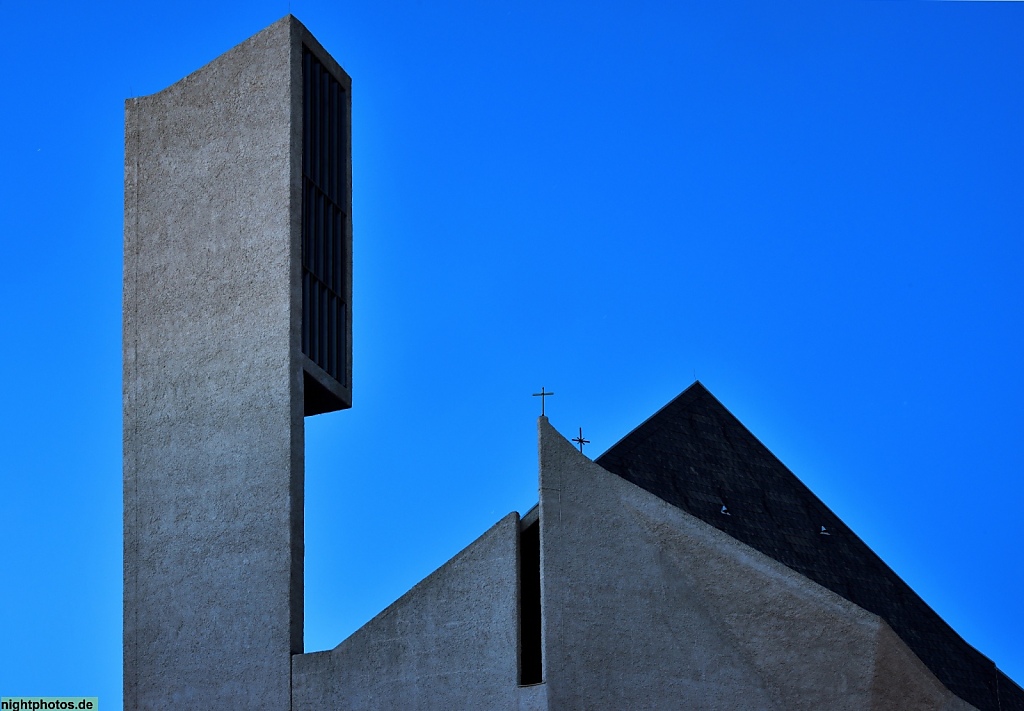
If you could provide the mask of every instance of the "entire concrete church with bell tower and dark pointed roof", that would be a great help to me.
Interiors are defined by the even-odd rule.
[[[304,421],[351,406],[351,82],[287,16],[129,99],[125,709],[1024,711],[699,382],[302,639]]]

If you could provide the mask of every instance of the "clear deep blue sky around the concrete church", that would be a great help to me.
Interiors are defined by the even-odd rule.
[[[0,695],[121,705],[123,101],[287,12],[353,79],[306,649],[697,377],[1024,682],[1024,4],[2,3]]]

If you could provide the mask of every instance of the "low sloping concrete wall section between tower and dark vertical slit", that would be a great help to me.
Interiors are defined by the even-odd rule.
[[[517,679],[510,513],[330,652],[293,658],[295,711],[539,709]]]

